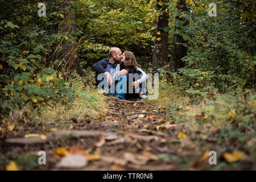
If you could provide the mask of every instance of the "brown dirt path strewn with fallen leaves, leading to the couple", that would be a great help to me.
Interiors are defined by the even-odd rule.
[[[72,118],[70,130],[49,132],[44,139],[2,140],[0,159],[45,151],[46,165],[38,165],[36,156],[26,158],[28,162],[20,163],[20,167],[30,169],[26,166],[33,164],[35,169],[47,170],[60,169],[60,160],[71,155],[85,156],[86,164],[77,166],[82,170],[180,170],[207,165],[197,161],[202,153],[191,140],[177,137],[183,126],[174,124],[171,117],[167,119],[162,106],[114,98],[108,103],[108,113],[98,114],[97,119],[85,117],[77,122]],[[76,164],[72,165],[68,168],[75,169]]]

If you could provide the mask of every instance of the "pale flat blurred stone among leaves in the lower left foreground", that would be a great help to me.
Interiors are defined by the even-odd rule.
[[[83,155],[68,155],[61,158],[60,162],[57,163],[57,168],[81,168],[85,167],[87,159]]]

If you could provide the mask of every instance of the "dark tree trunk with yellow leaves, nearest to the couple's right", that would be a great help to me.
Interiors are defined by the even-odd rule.
[[[168,62],[168,35],[169,32],[164,31],[168,27],[168,6],[159,5],[159,3],[166,3],[168,0],[157,0],[156,9],[160,11],[158,20],[156,21],[156,30],[154,33],[154,49],[152,56],[153,68],[163,67]],[[160,34],[159,34],[160,33]]]

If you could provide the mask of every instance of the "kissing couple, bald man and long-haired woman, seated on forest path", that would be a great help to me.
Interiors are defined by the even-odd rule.
[[[133,52],[125,51],[122,53],[118,47],[112,47],[109,51],[109,57],[95,63],[93,69],[96,72],[96,85],[102,81],[105,86],[108,85],[107,96],[115,96],[122,100],[127,98],[144,100],[147,97],[146,81],[148,76],[139,67]],[[125,84],[118,86],[117,84],[120,82],[125,82]],[[100,88],[104,88],[104,85]]]

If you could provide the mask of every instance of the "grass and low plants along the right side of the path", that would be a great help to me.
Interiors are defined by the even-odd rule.
[[[177,86],[159,86],[159,98],[148,100],[163,105],[167,118],[184,126],[183,133],[197,148],[218,148],[218,152],[243,151],[256,159],[256,95],[245,92],[215,93],[208,97],[183,92]],[[222,165],[223,166],[223,165]]]

